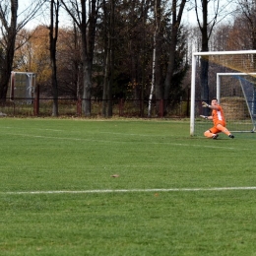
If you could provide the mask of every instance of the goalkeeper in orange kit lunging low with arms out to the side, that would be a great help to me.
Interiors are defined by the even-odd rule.
[[[216,97],[213,98],[211,105],[203,101],[202,106],[211,108],[212,115],[211,116],[200,115],[200,116],[205,119],[213,120],[214,122],[214,126],[209,130],[205,131],[204,135],[207,138],[217,139],[219,136],[218,134],[223,132],[229,138],[233,139],[234,136],[225,127],[224,110],[223,110],[223,107],[218,103],[218,99]]]

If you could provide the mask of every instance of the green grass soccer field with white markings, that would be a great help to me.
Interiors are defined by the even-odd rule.
[[[256,255],[256,134],[0,119],[1,255]]]

